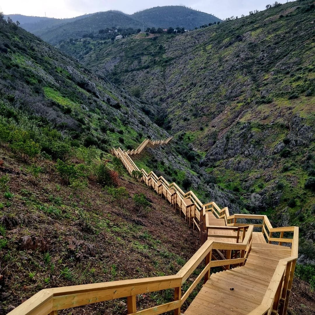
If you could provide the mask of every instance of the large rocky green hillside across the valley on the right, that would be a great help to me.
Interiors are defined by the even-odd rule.
[[[83,62],[148,100],[143,111],[204,154],[232,202],[314,239],[313,16],[312,1],[290,2],[179,36],[129,37]]]

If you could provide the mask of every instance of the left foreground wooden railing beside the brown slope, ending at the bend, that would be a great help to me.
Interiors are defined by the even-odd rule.
[[[209,279],[211,267],[224,266],[226,264],[242,264],[245,261],[245,257],[234,258],[228,261],[212,261],[212,249],[245,250],[249,242],[249,237],[244,239],[241,244],[207,240],[176,275],[44,289],[20,304],[9,314],[56,315],[59,310],[127,298],[128,314],[157,315],[175,310],[175,314],[179,315],[181,306],[202,278],[204,277],[204,282]],[[205,260],[205,267],[202,272],[181,296],[182,285],[190,278],[203,260]],[[136,295],[165,289],[174,289],[174,301],[137,311]]]

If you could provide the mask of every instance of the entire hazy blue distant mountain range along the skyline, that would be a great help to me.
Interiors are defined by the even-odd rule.
[[[82,37],[84,34],[96,33],[100,29],[146,27],[195,27],[221,21],[212,14],[192,10],[183,6],[164,6],[146,9],[134,14],[124,14],[120,11],[106,11],[86,14],[71,19],[54,19],[20,14],[9,15],[15,22],[18,20],[26,31],[29,31],[44,41],[58,44],[70,37]],[[5,16],[7,18],[8,15]]]

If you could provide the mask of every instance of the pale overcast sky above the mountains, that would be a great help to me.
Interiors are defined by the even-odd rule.
[[[4,14],[24,14],[54,18],[70,18],[85,13],[107,10],[120,10],[134,13],[139,10],[163,5],[186,5],[192,9],[214,14],[224,19],[226,17],[247,15],[249,11],[264,10],[266,4],[274,0],[1,0],[0,11]],[[278,0],[285,3],[287,0]]]

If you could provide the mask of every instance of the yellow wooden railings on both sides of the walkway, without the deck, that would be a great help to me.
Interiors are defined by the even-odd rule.
[[[159,144],[165,144],[170,139],[159,142]],[[156,145],[156,143],[151,143],[151,145]],[[150,144],[148,139],[146,139],[134,150],[133,154],[139,154],[148,145]],[[278,245],[291,244],[291,256],[279,261],[261,305],[249,314],[286,314],[298,256],[298,227],[273,228],[266,215],[229,215],[228,208],[220,209],[214,202],[202,204],[192,191],[185,193],[176,183],[169,184],[162,176],[158,177],[153,172],[146,173],[144,169],[139,170],[129,153],[120,148],[113,149],[113,154],[122,161],[129,174],[133,170],[141,171],[143,175],[140,179],[141,181],[169,200],[174,207],[180,210],[180,213],[183,212],[189,218],[193,217],[194,227],[197,226],[200,230],[201,247],[176,275],[44,289],[16,307],[9,314],[56,315],[59,310],[126,298],[128,314],[157,315],[174,310],[175,315],[179,315],[181,306],[192,291],[197,288],[198,283],[202,279],[204,279],[204,282],[209,279],[211,267],[222,266],[225,269],[229,269],[231,265],[242,266],[246,263],[252,246],[254,228],[261,228],[261,232],[265,235],[268,243],[278,243]],[[193,211],[191,206],[190,211],[187,211],[187,200],[190,200],[194,205]],[[235,231],[236,236],[234,238],[236,238],[236,243],[217,242],[208,239],[209,235],[205,225],[205,214],[207,211],[211,211],[215,217],[224,219],[226,222],[226,226],[211,226],[211,229],[231,229]],[[242,222],[238,222],[238,220],[242,220]],[[252,220],[255,220],[255,223],[248,222]],[[262,222],[257,223],[257,221]],[[242,232],[241,237],[240,232]],[[288,233],[293,234],[293,238],[285,237],[285,234]],[[227,255],[226,257],[221,256],[221,260],[218,260],[218,258],[212,260],[213,250],[226,251]],[[183,284],[203,261],[205,263],[203,270],[182,295]],[[136,295],[164,289],[174,289],[174,301],[137,311]]]

